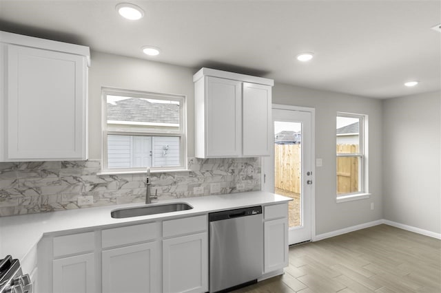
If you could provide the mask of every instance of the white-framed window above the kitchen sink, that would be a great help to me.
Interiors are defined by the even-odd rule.
[[[103,171],[185,166],[185,97],[103,89]]]

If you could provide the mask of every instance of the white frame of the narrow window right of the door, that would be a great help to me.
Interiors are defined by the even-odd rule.
[[[358,125],[358,136],[359,136],[359,146],[358,146],[358,153],[336,153],[336,158],[338,157],[358,157],[360,158],[359,164],[359,172],[358,172],[358,184],[359,184],[359,190],[356,193],[345,193],[343,195],[336,195],[336,202],[350,202],[353,200],[358,199],[365,199],[369,198],[369,176],[368,176],[368,170],[369,170],[369,160],[368,160],[368,116],[363,114],[356,114],[356,113],[345,113],[345,112],[337,112],[337,117],[347,117],[347,118],[357,118],[359,119],[359,125]],[[337,135],[336,135],[336,144],[337,145]],[[334,148],[335,148],[334,146]],[[336,184],[337,184],[337,168],[335,169],[336,172]],[[337,192],[336,186],[336,192]]]

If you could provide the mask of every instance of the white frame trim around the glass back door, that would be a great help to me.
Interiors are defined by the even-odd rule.
[[[272,104],[271,105],[271,113],[273,109],[283,109],[283,110],[291,110],[291,111],[302,111],[311,113],[311,171],[312,176],[311,180],[313,184],[311,184],[311,242],[316,238],[316,109],[311,107],[300,107],[300,106],[292,106],[292,105],[282,105],[282,104]],[[272,124],[272,115],[271,115],[271,124]],[[269,141],[271,144],[274,144],[274,125],[271,125],[270,129],[270,138]],[[268,157],[267,157],[268,158]],[[264,161],[267,158],[263,158],[262,165],[265,164]],[[274,153],[270,153],[269,160],[274,160]],[[261,190],[265,191],[265,168],[262,166],[261,168]],[[273,175],[274,178],[274,175]],[[274,188],[274,186],[272,186]],[[274,189],[273,189],[274,190]]]

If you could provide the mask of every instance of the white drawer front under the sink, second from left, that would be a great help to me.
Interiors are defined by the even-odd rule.
[[[159,223],[106,229],[101,232],[103,248],[136,242],[151,241],[159,237]]]

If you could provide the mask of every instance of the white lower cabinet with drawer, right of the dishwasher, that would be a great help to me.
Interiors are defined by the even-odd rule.
[[[263,272],[267,274],[288,266],[288,205],[265,206],[263,223]]]

